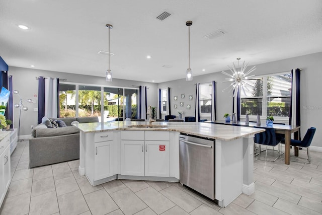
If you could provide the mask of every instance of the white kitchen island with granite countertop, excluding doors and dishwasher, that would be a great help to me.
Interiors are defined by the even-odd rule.
[[[133,125],[142,125],[142,127]],[[261,128],[251,128],[251,127],[241,127],[241,126],[228,126],[220,124],[211,123],[200,123],[200,122],[153,122],[152,125],[157,125],[155,127],[149,127],[146,122],[98,122],[98,123],[82,123],[76,124],[74,126],[78,127],[80,130],[80,155],[79,155],[79,167],[78,172],[80,175],[86,175],[92,185],[97,185],[99,183],[105,183],[116,178],[124,178],[125,176],[121,174],[122,161],[121,161],[121,133],[126,133],[127,131],[135,134],[141,131],[145,133],[157,134],[159,131],[166,131],[170,133],[170,178],[176,178],[180,180],[179,177],[179,134],[185,133],[189,135],[200,136],[204,138],[215,139],[215,193],[216,200],[219,206],[226,206],[231,201],[233,201],[241,193],[250,195],[255,190],[253,170],[254,170],[254,156],[253,156],[253,137],[254,134],[263,132],[265,129]],[[158,126],[160,125],[160,126]],[[168,127],[165,127],[168,126]],[[153,133],[154,132],[154,133]],[[113,140],[113,145],[109,145],[108,148],[111,157],[109,161],[110,171],[109,177],[104,178],[104,180],[95,180],[90,175],[95,169],[95,165],[88,166],[86,169],[86,164],[91,162],[92,155],[97,154],[97,147],[94,149],[94,144],[96,136],[106,136],[100,134],[110,134],[110,140]],[[112,135],[111,135],[112,134]],[[111,137],[112,136],[112,137]],[[151,136],[151,135],[150,135]],[[158,135],[155,135],[155,140]],[[160,135],[162,136],[162,135]],[[153,136],[152,136],[153,137]],[[134,138],[136,139],[136,138]],[[151,139],[150,139],[151,140]],[[125,140],[124,140],[125,141]],[[129,140],[126,140],[129,141]],[[144,139],[139,140],[143,142]],[[147,140],[145,139],[145,142]],[[122,145],[123,146],[123,145]],[[145,150],[146,150],[145,145]],[[96,151],[95,151],[96,150]],[[111,151],[112,150],[112,151]],[[140,149],[141,150],[141,149]],[[145,151],[142,147],[142,152]],[[111,151],[111,152],[110,152]],[[145,152],[146,153],[146,152]],[[90,154],[90,156],[89,156]],[[99,153],[100,154],[100,153]],[[147,154],[147,153],[146,153]],[[123,155],[123,154],[122,154]],[[124,156],[123,156],[124,157]],[[122,158],[124,159],[124,158]],[[144,159],[143,159],[144,160]],[[107,161],[108,162],[108,161]],[[123,161],[124,163],[124,161]],[[122,164],[122,165],[121,165]],[[144,167],[143,167],[144,168]],[[146,168],[146,167],[145,167]],[[90,173],[91,172],[91,173]],[[124,172],[123,172],[124,173]],[[94,173],[93,173],[94,174]],[[92,175],[93,175],[92,174]],[[91,178],[91,179],[90,179]],[[131,178],[131,175],[126,175],[127,179],[142,179],[144,180],[158,180],[168,178],[165,177],[147,177],[135,176]]]

